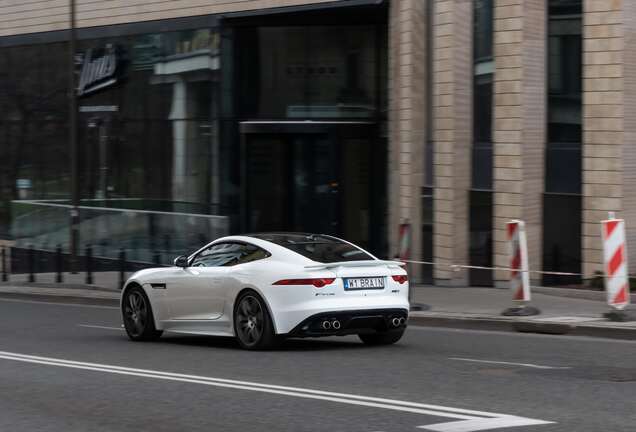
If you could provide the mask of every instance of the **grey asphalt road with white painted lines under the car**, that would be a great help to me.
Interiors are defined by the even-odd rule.
[[[6,299],[0,324],[1,431],[636,430],[636,341],[410,327],[248,352]]]

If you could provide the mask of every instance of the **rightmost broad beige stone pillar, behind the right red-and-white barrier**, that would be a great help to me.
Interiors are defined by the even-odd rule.
[[[625,1],[631,3],[631,0]],[[609,211],[621,216],[623,210],[622,150],[628,147],[623,134],[626,101],[623,5],[623,0],[585,0],[583,5],[582,259],[585,278],[602,270],[599,222],[607,218]],[[633,189],[635,185],[629,186],[627,189]],[[628,227],[636,228],[634,224],[636,220],[627,220]]]

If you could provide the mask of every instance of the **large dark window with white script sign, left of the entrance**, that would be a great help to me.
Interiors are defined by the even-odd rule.
[[[80,39],[82,247],[150,262],[227,234],[219,43],[216,28]],[[67,58],[65,42],[0,49],[0,236],[18,248],[68,248]]]

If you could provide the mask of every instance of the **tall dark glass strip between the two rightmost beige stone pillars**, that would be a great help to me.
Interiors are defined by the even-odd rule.
[[[543,268],[581,271],[582,2],[552,0],[548,20],[548,127]],[[546,275],[547,285],[579,278]]]

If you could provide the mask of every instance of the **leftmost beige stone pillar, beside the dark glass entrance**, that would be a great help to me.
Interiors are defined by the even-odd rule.
[[[426,3],[393,0],[389,11],[389,253],[411,224],[411,258],[421,257],[421,187],[426,139]],[[420,267],[411,269],[414,277]]]

